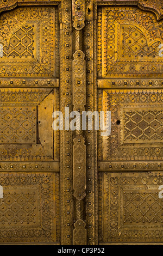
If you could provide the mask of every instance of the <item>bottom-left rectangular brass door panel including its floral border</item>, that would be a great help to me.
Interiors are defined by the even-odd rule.
[[[0,243],[59,241],[59,175],[0,174]]]

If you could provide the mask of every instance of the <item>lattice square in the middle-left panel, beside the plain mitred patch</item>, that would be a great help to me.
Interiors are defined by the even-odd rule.
[[[36,144],[35,107],[1,107],[0,143]]]

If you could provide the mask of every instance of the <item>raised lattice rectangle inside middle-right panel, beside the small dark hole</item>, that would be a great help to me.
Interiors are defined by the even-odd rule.
[[[123,141],[125,143],[162,142],[162,108],[123,108]]]

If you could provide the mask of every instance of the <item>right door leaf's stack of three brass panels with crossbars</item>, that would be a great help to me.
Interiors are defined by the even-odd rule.
[[[98,134],[101,244],[161,243],[162,20],[137,7],[98,8]]]

